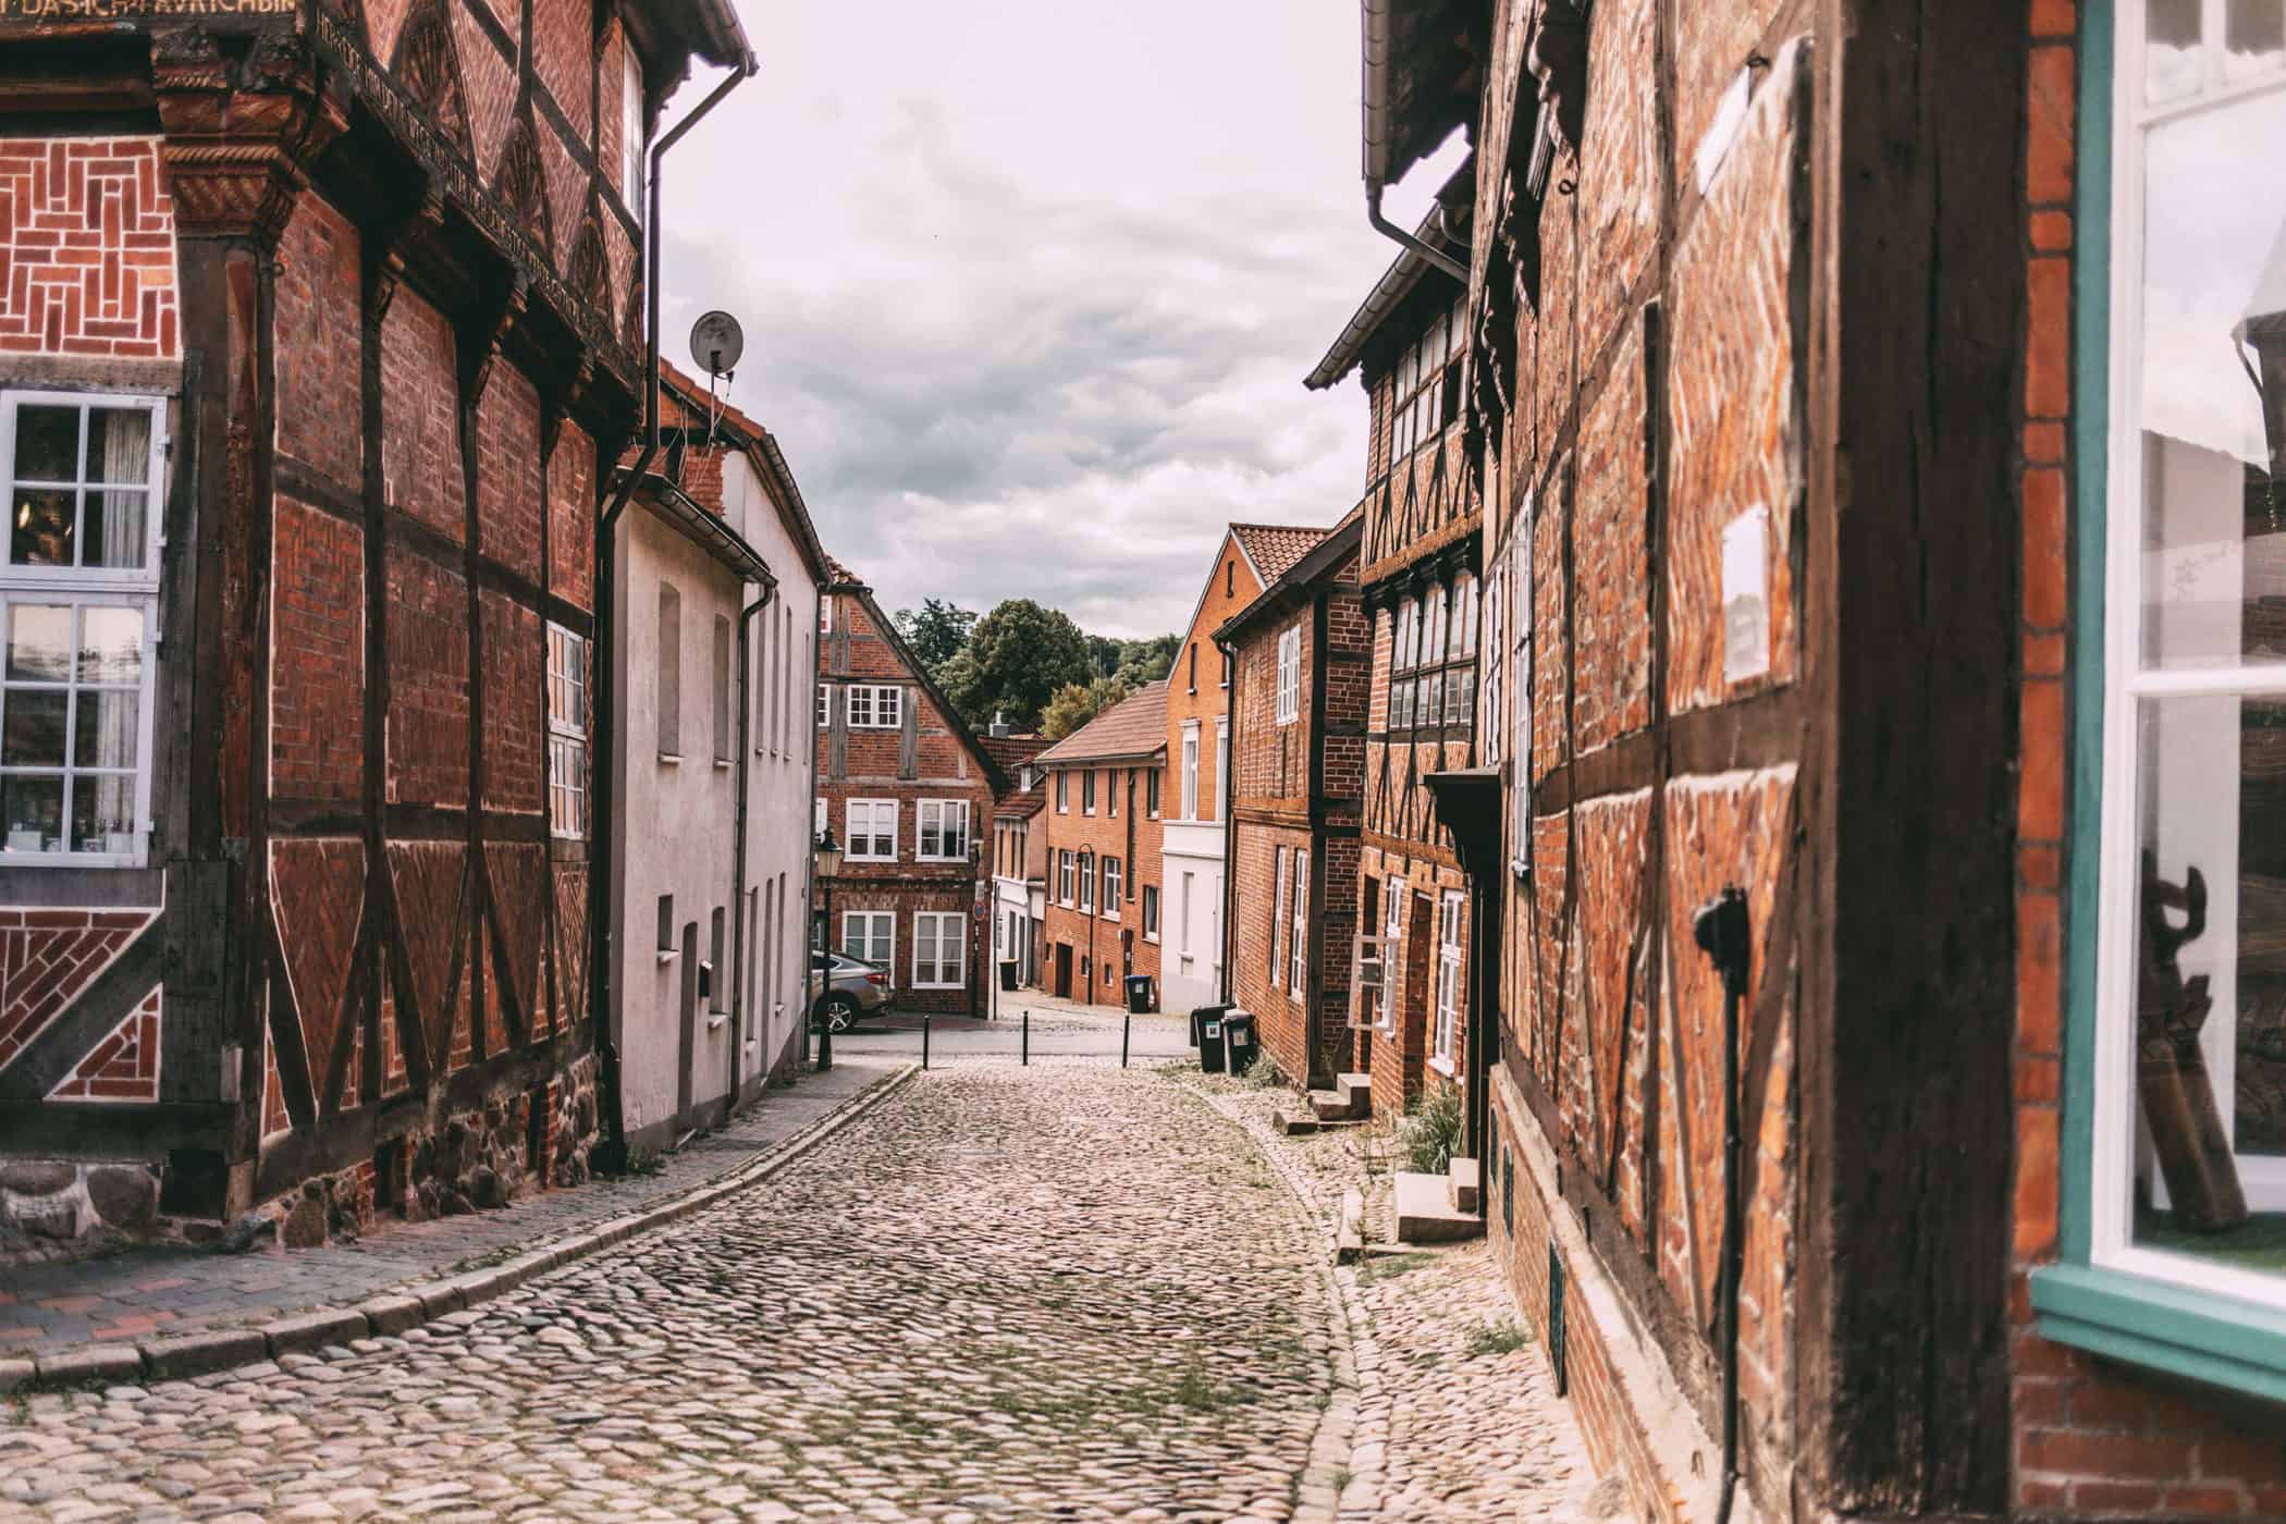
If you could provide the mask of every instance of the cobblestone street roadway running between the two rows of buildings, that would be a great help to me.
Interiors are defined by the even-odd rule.
[[[1353,1332],[1276,1170],[1145,1069],[921,1074],[766,1188],[405,1337],[14,1398],[0,1515],[1575,1517],[1413,1485],[1404,1444],[1472,1428],[1456,1369],[1513,1403],[1532,1353]],[[1415,1277],[1481,1280],[1376,1300]],[[1376,1417],[1390,1364],[1438,1433]]]

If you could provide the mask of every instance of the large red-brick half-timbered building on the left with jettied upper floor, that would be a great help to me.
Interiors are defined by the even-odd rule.
[[[652,123],[738,23],[105,9],[0,7],[7,1216],[309,1243],[576,1179],[599,462]]]

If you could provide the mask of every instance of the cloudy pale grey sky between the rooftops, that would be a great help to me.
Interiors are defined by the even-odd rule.
[[[1353,5],[741,14],[761,73],[668,158],[663,338],[684,359],[702,311],[738,315],[732,400],[887,608],[1175,631],[1223,523],[1356,503],[1365,393],[1301,386],[1394,254]]]

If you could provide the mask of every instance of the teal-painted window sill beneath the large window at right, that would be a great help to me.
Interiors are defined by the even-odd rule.
[[[2286,1403],[2286,1328],[2259,1302],[2096,1266],[2032,1270],[2044,1339]]]

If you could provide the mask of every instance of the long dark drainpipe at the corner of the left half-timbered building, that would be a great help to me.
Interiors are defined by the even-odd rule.
[[[636,462],[633,471],[622,473],[620,496],[613,498],[610,507],[594,523],[594,685],[590,713],[601,715],[601,724],[592,727],[597,731],[597,745],[588,756],[588,829],[590,829],[590,852],[588,852],[588,1005],[590,1019],[594,1021],[594,1051],[597,1051],[597,1088],[601,1094],[604,1113],[604,1142],[597,1145],[594,1168],[606,1174],[617,1174],[626,1168],[626,1106],[622,1104],[620,1088],[620,1044],[610,1035],[613,1014],[613,982],[610,982],[610,834],[615,820],[610,818],[610,743],[617,738],[610,731],[610,701],[613,701],[613,596],[610,583],[617,576],[617,523],[620,514],[626,512],[629,500],[636,496],[636,482],[642,473],[652,468],[658,459],[658,165],[668,155],[668,149],[679,144],[690,128],[700,123],[722,96],[738,89],[743,82],[752,80],[761,69],[754,55],[748,53],[745,62],[720,85],[713,87],[697,110],[668,128],[665,137],[652,144],[652,183],[649,183],[649,219],[642,228],[642,299],[645,299],[645,345],[642,345],[642,457]]]

